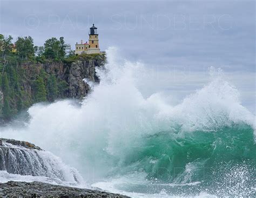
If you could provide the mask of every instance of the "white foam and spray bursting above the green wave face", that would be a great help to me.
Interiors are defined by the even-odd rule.
[[[31,141],[78,168],[86,179],[95,179],[125,159],[147,134],[214,132],[233,122],[255,128],[255,116],[241,105],[238,90],[220,70],[211,69],[210,84],[172,105],[157,93],[144,98],[137,86],[137,79],[147,72],[144,65],[117,58],[116,49],[107,50],[106,70],[97,69],[100,84],[82,107],[71,100],[33,105],[27,127],[3,128],[0,135]],[[176,126],[181,127],[180,134]]]

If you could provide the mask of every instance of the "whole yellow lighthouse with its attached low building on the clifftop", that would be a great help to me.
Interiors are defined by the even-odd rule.
[[[90,31],[89,31],[89,43],[83,43],[83,40],[81,40],[81,43],[76,43],[76,54],[86,53],[102,53],[99,50],[99,35],[97,28],[92,24]]]

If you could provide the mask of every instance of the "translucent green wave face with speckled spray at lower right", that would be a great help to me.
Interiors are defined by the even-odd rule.
[[[118,186],[126,192],[188,196],[255,197],[254,130],[233,124],[216,131],[144,136],[119,165],[119,174],[146,173],[147,184]]]

